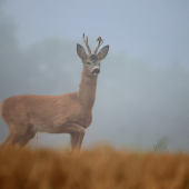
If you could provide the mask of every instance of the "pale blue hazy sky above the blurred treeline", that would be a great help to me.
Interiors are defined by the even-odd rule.
[[[112,52],[151,63],[188,66],[188,0],[7,0],[21,46],[49,37],[101,36]]]

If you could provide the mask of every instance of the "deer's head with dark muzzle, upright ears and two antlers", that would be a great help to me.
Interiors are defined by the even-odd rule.
[[[90,47],[88,44],[88,37],[84,39],[84,33],[83,33],[83,41],[87,46],[89,54],[86,53],[86,50],[83,49],[82,46],[77,44],[78,56],[82,60],[83,70],[88,77],[97,77],[100,73],[100,61],[106,58],[109,51],[109,46],[106,46],[98,52],[98,49],[102,43],[102,39],[101,37],[99,37],[97,40],[98,40],[98,47],[96,48],[93,54],[91,53]]]

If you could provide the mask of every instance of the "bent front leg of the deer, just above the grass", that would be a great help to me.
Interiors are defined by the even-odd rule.
[[[86,133],[84,128],[76,123],[68,123],[63,126],[62,131],[71,135],[71,151],[79,150]]]

